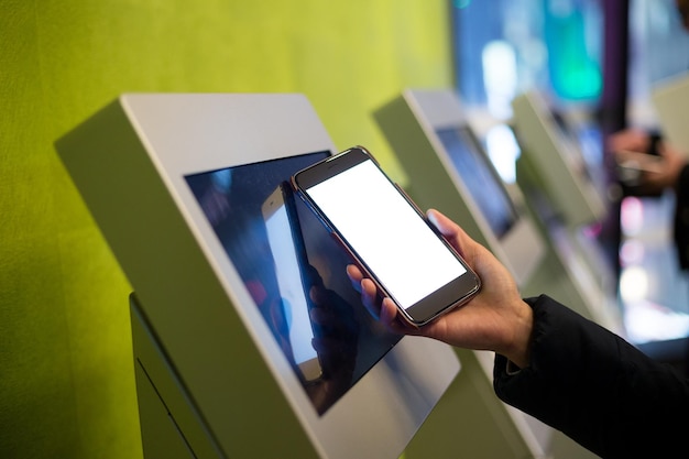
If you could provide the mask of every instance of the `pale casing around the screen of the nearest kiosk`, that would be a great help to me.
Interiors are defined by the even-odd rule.
[[[147,457],[402,453],[458,373],[455,352],[402,338],[318,415],[184,178],[332,154],[304,96],[123,95],[56,149],[135,291]]]

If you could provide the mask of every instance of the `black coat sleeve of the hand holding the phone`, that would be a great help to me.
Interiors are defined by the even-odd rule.
[[[547,296],[527,302],[531,362],[511,375],[495,357],[502,401],[603,458],[689,457],[688,381]]]

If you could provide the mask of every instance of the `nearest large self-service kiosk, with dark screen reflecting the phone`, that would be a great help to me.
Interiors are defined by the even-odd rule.
[[[56,149],[134,289],[146,458],[397,458],[460,372],[285,188],[336,152],[304,96],[123,95]]]

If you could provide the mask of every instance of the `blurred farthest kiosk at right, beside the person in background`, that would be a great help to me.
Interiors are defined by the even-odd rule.
[[[616,299],[616,277],[587,227],[608,211],[603,188],[593,179],[575,140],[567,135],[543,97],[516,97],[513,129],[521,145],[517,183],[562,267],[575,295],[564,302],[581,315],[625,336]]]

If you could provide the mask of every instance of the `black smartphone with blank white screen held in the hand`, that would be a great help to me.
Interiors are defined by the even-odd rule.
[[[479,292],[479,276],[364,147],[299,171],[292,183],[409,324],[423,326]]]

